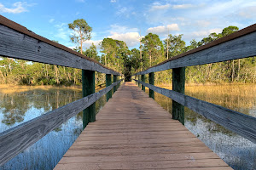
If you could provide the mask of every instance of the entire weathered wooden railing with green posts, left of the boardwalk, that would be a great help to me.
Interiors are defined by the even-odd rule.
[[[0,166],[80,111],[83,111],[83,127],[89,122],[94,122],[96,100],[104,94],[107,94],[108,99],[111,98],[110,91],[112,88],[116,91],[116,87],[122,81],[119,80],[122,76],[119,72],[61,44],[40,37],[2,15],[0,15],[0,55],[82,69],[83,82],[82,99],[0,133]],[[106,74],[106,88],[98,93],[95,93],[95,71]],[[113,83],[111,75],[113,75]]]

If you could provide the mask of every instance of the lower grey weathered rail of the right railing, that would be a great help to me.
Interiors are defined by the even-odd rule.
[[[232,111],[222,106],[214,105],[201,99],[195,99],[166,88],[159,88],[145,82],[140,83],[145,87],[154,90],[154,92],[163,94],[166,97],[175,100],[177,103],[188,107],[192,111],[199,113],[201,116],[205,116],[207,119],[210,119],[230,131],[241,135],[245,139],[256,143],[256,117],[247,116],[240,112]]]

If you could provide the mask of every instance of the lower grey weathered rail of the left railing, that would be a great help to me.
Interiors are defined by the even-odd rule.
[[[22,150],[25,150],[43,138],[47,133],[55,129],[55,127],[59,127],[63,122],[67,122],[69,118],[95,103],[97,99],[107,94],[119,82],[114,82],[98,93],[90,94],[87,97],[64,105],[54,111],[49,111],[42,116],[38,116],[0,133],[0,165],[3,165]]]

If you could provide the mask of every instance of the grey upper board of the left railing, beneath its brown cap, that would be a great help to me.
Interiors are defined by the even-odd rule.
[[[64,47],[64,46],[63,46]],[[66,47],[65,47],[66,48]],[[0,55],[15,59],[26,59],[51,65],[62,65],[106,74],[120,75],[92,59],[71,49],[64,50],[47,42],[15,31],[0,23]]]

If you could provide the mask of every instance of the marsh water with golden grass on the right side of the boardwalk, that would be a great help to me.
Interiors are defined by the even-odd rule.
[[[147,88],[146,92],[148,93]],[[186,87],[185,94],[256,117],[256,84],[193,86]],[[172,99],[157,93],[154,96],[163,108],[172,113]],[[185,127],[230,167],[236,170],[256,169],[256,144],[207,120],[187,107],[185,107]]]

